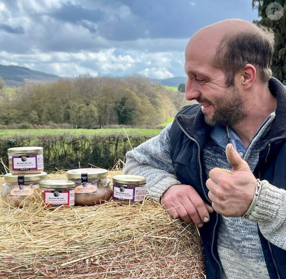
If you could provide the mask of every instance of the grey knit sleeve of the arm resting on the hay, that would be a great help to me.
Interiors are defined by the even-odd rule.
[[[158,136],[126,154],[123,173],[144,176],[147,195],[157,201],[170,186],[181,184],[175,176],[170,155],[171,125],[168,124]]]

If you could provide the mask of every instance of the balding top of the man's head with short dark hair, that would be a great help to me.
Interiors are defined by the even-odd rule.
[[[272,31],[245,20],[228,19],[197,31],[186,46],[185,58],[194,52],[206,58],[224,71],[230,86],[235,74],[247,63],[255,67],[263,83],[268,82],[273,51]]]

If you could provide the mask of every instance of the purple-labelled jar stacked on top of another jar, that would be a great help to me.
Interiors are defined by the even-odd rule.
[[[35,174],[44,170],[42,147],[13,147],[7,154],[11,174]]]

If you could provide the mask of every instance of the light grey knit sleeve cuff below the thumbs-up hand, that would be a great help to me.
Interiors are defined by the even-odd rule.
[[[286,190],[263,180],[257,203],[246,219],[257,222],[269,242],[286,250]]]

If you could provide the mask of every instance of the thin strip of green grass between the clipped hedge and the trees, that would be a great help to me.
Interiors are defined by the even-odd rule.
[[[167,123],[168,124],[168,123]],[[166,125],[167,125],[166,124]],[[158,135],[161,129],[137,129],[126,128],[127,135],[141,134],[143,136]],[[72,135],[96,135],[96,134],[111,134],[121,133],[125,135],[123,129],[15,129],[15,130],[0,130],[0,137],[9,137],[13,135],[45,135],[45,134],[63,134],[70,133]]]

